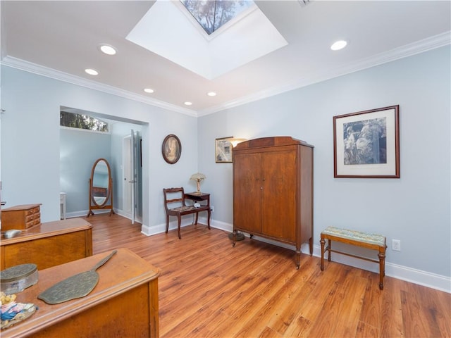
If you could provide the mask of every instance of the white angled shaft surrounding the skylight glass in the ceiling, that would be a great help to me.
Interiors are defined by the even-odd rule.
[[[247,2],[249,8],[207,35],[181,1],[156,0],[127,39],[212,80],[288,44],[257,4]]]

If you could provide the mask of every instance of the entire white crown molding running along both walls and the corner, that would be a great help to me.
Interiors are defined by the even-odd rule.
[[[175,111],[178,113],[183,113],[185,115],[200,117],[212,113],[217,113],[218,111],[224,111],[226,109],[234,108],[236,106],[242,106],[243,104],[248,104],[250,102],[265,99],[267,97],[282,94],[284,92],[290,92],[291,90],[294,89],[307,87],[310,84],[330,80],[334,77],[354,73],[359,70],[364,70],[366,68],[371,68],[376,65],[381,65],[383,63],[395,61],[400,58],[406,58],[408,56],[413,56],[415,54],[420,54],[425,51],[430,51],[432,49],[437,49],[450,44],[451,44],[451,31],[443,32],[442,34],[435,35],[433,37],[428,37],[427,39],[423,39],[418,42],[414,42],[412,44],[400,46],[396,49],[392,49],[390,51],[377,54],[376,56],[371,56],[370,58],[364,58],[357,62],[343,65],[340,68],[325,70],[321,73],[311,72],[311,74],[300,77],[299,79],[284,84],[283,86],[276,86],[264,89],[255,94],[243,96],[239,99],[228,101],[224,104],[220,104],[218,106],[214,106],[211,108],[206,108],[200,111],[194,111],[192,109],[175,106],[173,104],[168,104],[167,102],[159,101],[156,99],[149,99],[147,96],[127,92],[123,89],[118,89],[116,87],[101,84],[99,82],[95,82],[92,80],[86,80],[82,77],[70,75],[68,73],[63,73],[58,70],[47,68],[42,65],[37,65],[35,63],[30,63],[28,61],[23,61],[20,60],[19,58],[14,58],[11,56],[4,57],[1,60],[0,64],[7,65],[8,67],[17,68],[20,70],[25,70],[30,73],[35,73],[37,75],[51,77],[53,79],[61,80],[71,84],[78,84],[79,86],[82,87],[87,87],[89,89],[98,90],[100,92],[121,96],[124,97],[125,99],[142,102],[144,104],[149,104],[151,106],[168,109],[169,111]]]

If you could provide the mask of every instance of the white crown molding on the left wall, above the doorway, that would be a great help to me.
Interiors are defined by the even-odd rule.
[[[21,60],[20,58],[6,56],[1,60],[0,64],[6,65],[11,68],[25,70],[29,73],[50,77],[55,80],[60,80],[71,84],[77,84],[78,86],[98,90],[99,92],[121,96],[125,99],[142,102],[143,104],[149,104],[150,106],[156,106],[159,108],[168,109],[169,111],[175,111],[178,113],[183,113],[185,115],[197,117],[197,112],[193,111],[192,109],[182,108],[180,106],[168,104],[167,102],[159,101],[156,99],[149,99],[147,96],[144,95],[135,94],[123,89],[118,89],[116,87],[109,86],[107,84],[102,84],[75,75],[70,75],[68,73],[63,73],[59,70],[54,70],[52,68],[48,68],[43,65],[37,65],[36,63]]]

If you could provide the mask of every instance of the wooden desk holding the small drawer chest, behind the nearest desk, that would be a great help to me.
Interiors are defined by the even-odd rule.
[[[82,218],[41,223],[0,241],[0,270],[35,263],[37,270],[92,256],[92,225]]]

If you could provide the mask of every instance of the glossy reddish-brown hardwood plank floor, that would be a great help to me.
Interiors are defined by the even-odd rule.
[[[94,253],[125,247],[160,268],[160,337],[451,337],[451,294],[204,225],[151,237],[94,215]]]

